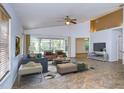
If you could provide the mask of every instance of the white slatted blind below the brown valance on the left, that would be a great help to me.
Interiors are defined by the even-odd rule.
[[[0,22],[0,80],[9,71],[9,31],[7,22]]]

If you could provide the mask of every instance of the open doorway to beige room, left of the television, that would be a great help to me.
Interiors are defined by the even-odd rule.
[[[89,38],[76,38],[76,58],[86,59],[89,50]]]

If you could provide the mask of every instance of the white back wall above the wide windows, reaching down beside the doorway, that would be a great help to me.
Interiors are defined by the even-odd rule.
[[[75,57],[75,38],[90,36],[90,22],[70,26],[57,26],[25,30],[25,34],[46,37],[71,37],[71,57]]]

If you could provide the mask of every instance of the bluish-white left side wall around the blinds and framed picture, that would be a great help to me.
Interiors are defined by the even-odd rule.
[[[6,77],[3,81],[0,82],[0,88],[11,88],[15,78],[17,76],[17,67],[18,62],[22,55],[22,47],[21,47],[21,54],[17,57],[15,57],[15,38],[16,35],[22,37],[23,29],[21,27],[21,24],[19,23],[19,20],[17,19],[15,12],[13,8],[11,7],[11,4],[3,4],[9,15],[11,16],[11,33],[10,33],[10,63],[11,63],[11,69],[10,73],[8,74],[8,77]],[[23,40],[21,38],[21,40]],[[21,44],[22,45],[22,44]]]

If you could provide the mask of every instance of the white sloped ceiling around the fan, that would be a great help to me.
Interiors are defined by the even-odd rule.
[[[64,17],[88,21],[117,8],[119,3],[14,3],[12,4],[24,29],[63,26]]]

